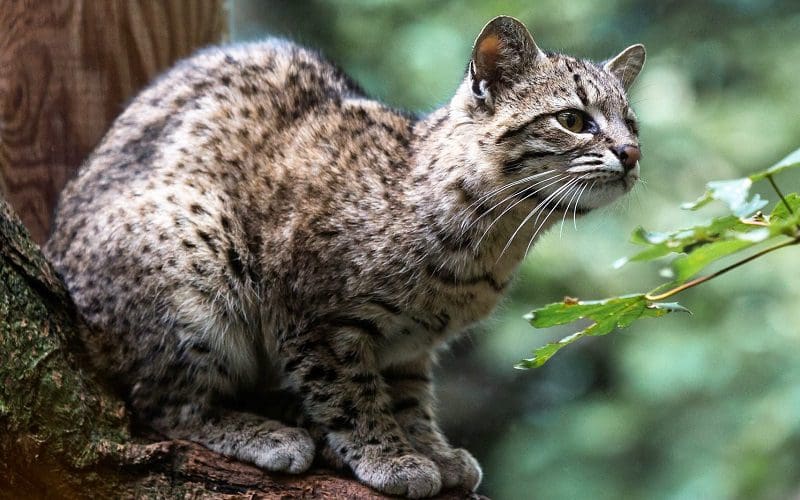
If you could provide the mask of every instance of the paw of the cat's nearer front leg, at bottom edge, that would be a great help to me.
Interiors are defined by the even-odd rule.
[[[439,467],[422,455],[363,458],[356,476],[376,490],[408,498],[433,496],[442,488]]]

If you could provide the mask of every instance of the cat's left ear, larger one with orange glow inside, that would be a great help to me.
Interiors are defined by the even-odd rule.
[[[545,55],[524,24],[513,17],[495,17],[483,27],[472,48],[472,93],[486,99],[498,86],[513,82],[538,57]]]

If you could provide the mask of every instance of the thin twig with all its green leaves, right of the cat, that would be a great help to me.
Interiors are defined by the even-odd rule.
[[[684,209],[698,210],[713,201],[725,203],[731,213],[715,217],[707,224],[670,232],[637,228],[631,235],[631,242],[645,248],[630,257],[619,259],[614,267],[622,267],[628,262],[673,256],[668,269],[672,281],[647,293],[594,301],[566,297],[562,302],[533,310],[525,319],[535,328],[564,325],[579,320],[587,321],[589,325],[557,342],[536,349],[533,357],[519,361],[516,368],[538,368],[564,346],[582,337],[606,335],[616,328],[626,328],[640,318],[657,318],[674,311],[689,312],[677,302],[661,301],[776,250],[800,244],[800,194],[784,195],[775,181],[777,174],[797,167],[800,167],[800,149],[768,169],[747,177],[709,182],[703,196],[682,205]],[[768,215],[761,211],[767,205],[767,200],[759,194],[750,196],[750,188],[762,180],[767,180],[780,198]],[[722,269],[697,276],[724,257],[741,255],[756,245],[768,243],[771,245]]]

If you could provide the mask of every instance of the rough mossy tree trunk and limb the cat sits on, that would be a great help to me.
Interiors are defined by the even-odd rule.
[[[0,497],[385,498],[331,471],[268,474],[194,443],[132,435],[124,404],[88,368],[81,328],[0,197]]]

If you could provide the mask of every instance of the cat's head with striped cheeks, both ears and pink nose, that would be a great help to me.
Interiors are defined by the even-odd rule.
[[[641,153],[626,91],[644,59],[642,45],[601,63],[545,53],[518,20],[490,21],[451,103],[481,131],[483,181],[578,213],[630,190]]]

